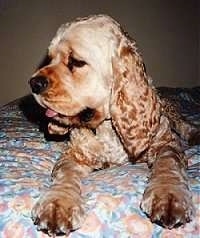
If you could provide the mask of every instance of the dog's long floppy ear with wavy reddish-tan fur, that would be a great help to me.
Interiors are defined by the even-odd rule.
[[[125,149],[136,159],[159,123],[160,103],[134,42],[126,36],[113,57],[111,117]]]

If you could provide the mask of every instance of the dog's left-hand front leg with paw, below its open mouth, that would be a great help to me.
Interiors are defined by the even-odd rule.
[[[68,234],[80,227],[84,217],[80,180],[84,174],[85,169],[73,160],[62,158],[57,163],[51,187],[32,210],[38,230],[49,235]]]

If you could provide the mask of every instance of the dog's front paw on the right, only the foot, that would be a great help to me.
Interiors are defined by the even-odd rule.
[[[141,208],[152,222],[168,229],[190,222],[194,215],[190,191],[179,185],[147,188]]]

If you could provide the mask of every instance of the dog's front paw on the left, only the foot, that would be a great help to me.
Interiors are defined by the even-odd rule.
[[[38,230],[49,235],[69,234],[80,228],[84,218],[83,204],[68,196],[45,194],[32,209],[32,219]]]

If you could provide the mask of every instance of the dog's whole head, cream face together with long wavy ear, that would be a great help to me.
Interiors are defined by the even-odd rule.
[[[91,128],[112,119],[125,145],[127,131],[148,137],[158,119],[156,97],[135,42],[116,21],[97,15],[62,25],[48,54],[51,62],[30,79],[47,117]],[[61,128],[50,124],[49,131],[65,133]]]

